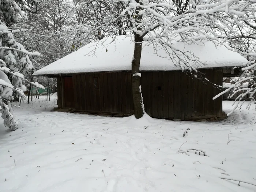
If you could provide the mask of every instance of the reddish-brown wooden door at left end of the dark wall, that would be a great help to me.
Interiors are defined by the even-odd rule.
[[[72,77],[64,77],[64,107],[74,108],[74,86]]]

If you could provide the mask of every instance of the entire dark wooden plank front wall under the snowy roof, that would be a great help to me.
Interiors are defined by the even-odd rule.
[[[222,85],[222,69],[200,71],[210,82]],[[141,73],[144,106],[151,117],[184,120],[194,116],[195,112],[199,116],[222,116],[222,98],[212,100],[221,90],[207,81],[192,78],[181,71]],[[61,87],[58,89],[59,107],[71,107],[67,97],[72,97],[64,91],[65,78],[57,78],[57,86]],[[131,72],[74,74],[72,81],[73,107],[76,110],[110,114],[133,113]]]

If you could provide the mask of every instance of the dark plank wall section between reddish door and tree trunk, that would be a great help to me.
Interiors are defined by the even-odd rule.
[[[74,74],[73,84],[77,110],[133,113],[131,72]]]

